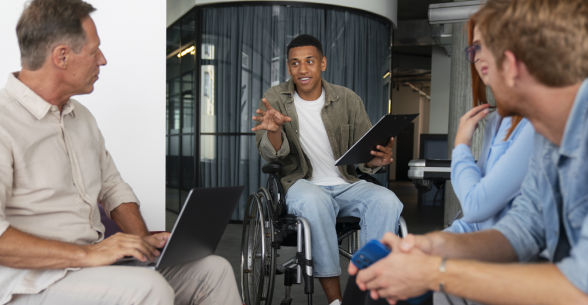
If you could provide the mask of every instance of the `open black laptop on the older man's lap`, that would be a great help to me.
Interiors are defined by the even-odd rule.
[[[227,228],[244,188],[231,186],[192,189],[161,255],[155,261],[141,262],[134,257],[125,257],[112,265],[161,270],[211,255]]]

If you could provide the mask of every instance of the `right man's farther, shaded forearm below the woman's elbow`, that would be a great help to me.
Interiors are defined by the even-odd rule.
[[[510,242],[497,230],[453,234],[433,232],[430,253],[447,258],[475,259],[486,262],[516,262],[517,255]]]

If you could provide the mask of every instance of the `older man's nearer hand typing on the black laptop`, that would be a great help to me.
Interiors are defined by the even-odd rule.
[[[154,238],[155,240],[158,239],[157,237],[151,237],[151,239]],[[142,262],[153,260],[160,253],[151,244],[151,239],[149,241],[147,239],[137,235],[117,233],[97,244],[82,246],[86,255],[82,259],[80,266],[106,266],[125,256],[134,256]],[[154,243],[161,244],[161,240],[159,240],[160,242],[155,242],[155,240],[153,241]]]

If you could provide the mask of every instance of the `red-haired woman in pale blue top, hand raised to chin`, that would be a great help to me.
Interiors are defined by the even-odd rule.
[[[481,59],[480,30],[474,19],[468,22],[465,49],[471,64],[474,108],[460,120],[451,158],[451,185],[459,199],[463,218],[446,229],[453,233],[475,232],[491,228],[508,210],[521,192],[533,148],[535,130],[521,116],[502,117],[497,112],[486,116],[488,63]],[[478,162],[470,145],[475,127],[486,116],[484,141]]]

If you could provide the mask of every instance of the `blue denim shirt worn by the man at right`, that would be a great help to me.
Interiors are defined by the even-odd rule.
[[[508,239],[520,261],[533,260],[544,249],[553,259],[560,236],[557,207],[563,205],[563,227],[571,251],[556,266],[584,293],[588,293],[587,157],[588,79],[576,95],[561,145],[535,136],[521,195],[494,227]]]

